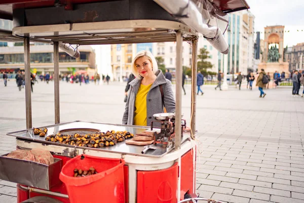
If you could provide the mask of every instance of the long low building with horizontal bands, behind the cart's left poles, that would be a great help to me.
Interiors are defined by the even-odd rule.
[[[30,44],[30,67],[37,74],[54,72],[54,47],[50,44]],[[91,46],[79,46],[79,58],[73,58],[59,49],[59,73],[75,73],[85,70],[89,75],[95,74],[95,52]],[[14,43],[14,46],[0,47],[0,72],[17,72],[24,70],[23,43]]]

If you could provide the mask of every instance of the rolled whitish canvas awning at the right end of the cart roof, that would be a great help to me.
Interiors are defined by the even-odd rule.
[[[223,54],[229,52],[229,46],[223,37],[229,24],[226,13],[249,8],[244,0],[154,1],[184,24],[202,33],[208,42]]]

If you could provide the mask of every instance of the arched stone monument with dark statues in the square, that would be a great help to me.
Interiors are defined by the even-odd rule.
[[[258,65],[258,72],[264,69],[273,76],[275,71],[289,75],[288,62],[283,62],[284,56],[284,26],[267,26],[264,28],[264,46],[262,61]]]

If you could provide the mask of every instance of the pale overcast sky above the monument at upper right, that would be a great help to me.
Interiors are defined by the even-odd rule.
[[[255,31],[265,26],[284,25],[284,47],[304,43],[304,0],[246,0],[255,16]],[[299,30],[299,31],[297,31]],[[301,31],[303,30],[303,31]],[[261,39],[264,36],[261,35]]]

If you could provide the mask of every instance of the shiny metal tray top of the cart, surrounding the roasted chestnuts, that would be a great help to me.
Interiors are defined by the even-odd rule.
[[[38,127],[38,126],[35,126],[35,127]],[[56,134],[60,130],[72,129],[72,128],[92,128],[92,129],[99,129],[101,132],[105,132],[107,130],[115,130],[115,131],[126,130],[133,134],[136,134],[136,133],[149,129],[149,127],[147,127],[147,126],[95,123],[95,122],[87,122],[87,121],[73,121],[73,122],[43,126],[43,128],[44,127],[48,128],[48,132],[47,132],[46,136],[53,134],[53,133]],[[34,135],[32,132],[32,129],[21,130],[21,131],[16,131],[16,132],[9,132],[9,133],[7,133],[7,135],[17,137],[22,140],[30,141],[27,146],[22,146],[22,147],[32,149],[32,148],[34,148],[33,143],[41,143],[42,145],[44,145],[45,150],[49,150],[51,152],[53,152],[52,146],[66,147],[66,150],[74,148],[73,151],[75,151],[75,152],[78,151],[79,153],[85,153],[86,150],[90,150],[90,151],[93,150],[93,151],[100,151],[100,152],[111,152],[111,153],[129,154],[129,155],[146,156],[146,157],[162,157],[165,154],[170,152],[170,151],[166,151],[166,148],[160,146],[160,147],[158,147],[157,150],[150,150],[149,152],[147,152],[145,154],[141,154],[141,152],[143,150],[143,146],[128,145],[125,142],[119,142],[115,146],[108,146],[108,147],[103,147],[103,148],[89,148],[89,147],[71,146],[71,145],[66,145],[66,144],[61,144],[61,143],[52,143],[49,141],[45,141],[45,137],[39,137],[39,136]],[[184,133],[184,136],[182,137],[182,143],[185,142],[188,138],[189,138],[188,134]],[[26,143],[24,143],[24,145],[25,144]],[[70,156],[70,155],[68,155],[68,156]]]

